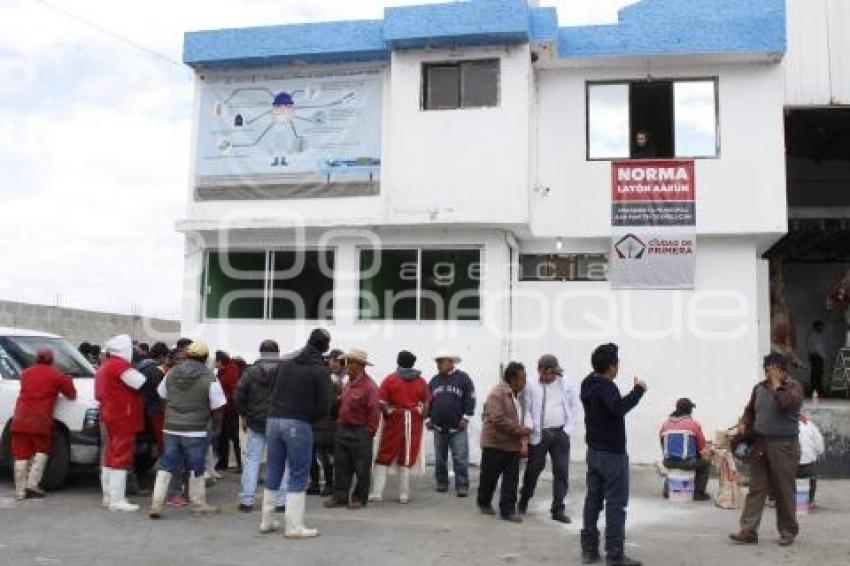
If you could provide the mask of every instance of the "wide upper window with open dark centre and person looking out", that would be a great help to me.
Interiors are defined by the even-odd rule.
[[[717,80],[589,83],[588,159],[717,157]]]

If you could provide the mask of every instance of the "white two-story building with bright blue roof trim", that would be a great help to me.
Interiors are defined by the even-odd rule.
[[[447,346],[482,396],[543,353],[578,383],[611,341],[621,388],[649,383],[637,461],[679,397],[709,434],[733,425],[770,349],[762,255],[788,227],[786,16],[643,0],[565,28],[470,0],[188,33],[184,332],[251,357],[324,326],[378,381],[399,349],[431,374]]]

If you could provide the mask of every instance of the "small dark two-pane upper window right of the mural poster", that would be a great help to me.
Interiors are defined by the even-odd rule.
[[[423,110],[453,110],[499,105],[499,60],[425,63]]]

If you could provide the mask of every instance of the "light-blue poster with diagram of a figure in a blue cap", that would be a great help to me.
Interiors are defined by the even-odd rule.
[[[382,77],[376,67],[205,74],[198,185],[376,183]]]

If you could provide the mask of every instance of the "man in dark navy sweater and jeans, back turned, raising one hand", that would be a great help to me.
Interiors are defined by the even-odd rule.
[[[629,504],[629,456],[626,453],[626,414],[640,402],[646,383],[635,378],[625,397],[614,385],[620,359],[616,344],[603,344],[591,356],[593,373],[581,384],[581,402],[587,430],[587,495],[581,531],[583,564],[596,564],[599,529],[596,523],[605,508],[605,563],[640,566],[624,553],[626,507]]]

